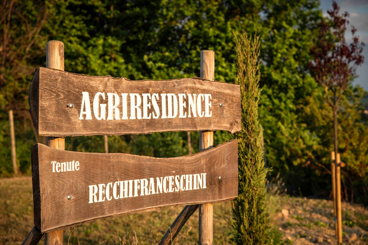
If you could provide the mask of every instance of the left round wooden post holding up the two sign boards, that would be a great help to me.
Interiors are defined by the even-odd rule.
[[[46,43],[46,67],[64,70],[64,44],[61,41]],[[46,145],[55,149],[65,150],[65,139],[47,136]],[[63,245],[63,230],[45,234],[45,245]]]

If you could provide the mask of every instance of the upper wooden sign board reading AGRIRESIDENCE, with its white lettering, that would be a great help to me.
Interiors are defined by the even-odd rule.
[[[131,81],[40,67],[29,106],[45,136],[241,130],[239,85],[201,78]]]

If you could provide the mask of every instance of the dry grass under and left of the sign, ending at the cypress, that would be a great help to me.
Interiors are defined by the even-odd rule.
[[[0,244],[21,244],[33,227],[32,179],[0,179]],[[99,219],[64,229],[64,244],[158,244],[184,206]],[[229,244],[231,203],[213,206],[213,244]],[[43,244],[42,241],[39,244]],[[173,244],[198,244],[198,211],[174,239]]]

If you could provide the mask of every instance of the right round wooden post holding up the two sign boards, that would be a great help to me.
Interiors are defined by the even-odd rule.
[[[201,51],[201,78],[215,80],[215,52]],[[215,105],[212,105],[212,107]],[[213,131],[199,132],[199,151],[213,147]],[[199,244],[212,245],[213,243],[213,204],[199,205]]]

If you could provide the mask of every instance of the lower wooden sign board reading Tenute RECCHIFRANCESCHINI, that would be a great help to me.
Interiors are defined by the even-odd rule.
[[[41,232],[168,205],[238,195],[238,144],[154,158],[32,147],[34,222]]]

